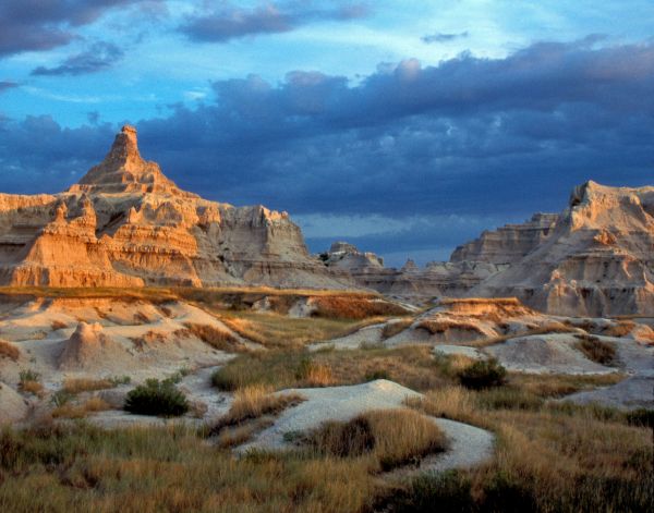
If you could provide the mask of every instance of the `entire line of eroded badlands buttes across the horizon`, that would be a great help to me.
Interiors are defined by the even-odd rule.
[[[588,182],[559,213],[484,232],[448,262],[385,268],[336,243],[308,254],[286,212],[180,190],[124,126],[57,195],[0,195],[0,284],[372,289],[424,302],[516,296],[557,315],[654,315],[654,187]]]

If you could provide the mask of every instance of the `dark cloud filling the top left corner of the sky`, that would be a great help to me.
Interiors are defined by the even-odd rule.
[[[159,0],[2,0],[0,57],[31,50],[49,50],[74,39],[75,28],[106,11]]]

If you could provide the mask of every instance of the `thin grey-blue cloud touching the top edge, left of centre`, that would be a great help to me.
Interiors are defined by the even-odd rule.
[[[190,16],[180,30],[191,39],[223,42],[244,36],[293,30],[324,20],[352,20],[368,14],[364,3],[312,0],[266,2],[252,9],[223,5]]]

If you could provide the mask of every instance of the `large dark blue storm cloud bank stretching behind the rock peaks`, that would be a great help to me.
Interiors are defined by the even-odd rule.
[[[356,235],[366,249],[463,242],[488,216],[492,228],[562,209],[589,179],[652,184],[654,42],[542,42],[505,59],[463,54],[436,66],[408,60],[356,85],[315,72],[280,84],[220,81],[214,102],[138,122],[141,149],[213,199],[293,215],[427,219]],[[76,181],[104,157],[116,127],[64,130],[28,118],[0,130],[0,190],[36,192],[34,184],[58,191]],[[448,215],[475,222],[437,218]]]

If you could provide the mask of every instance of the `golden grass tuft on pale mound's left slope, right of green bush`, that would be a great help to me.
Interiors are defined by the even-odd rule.
[[[239,389],[229,412],[218,419],[211,432],[218,433],[226,427],[239,426],[264,415],[278,415],[302,401],[304,398],[298,393],[274,394],[269,387],[262,384]]]

